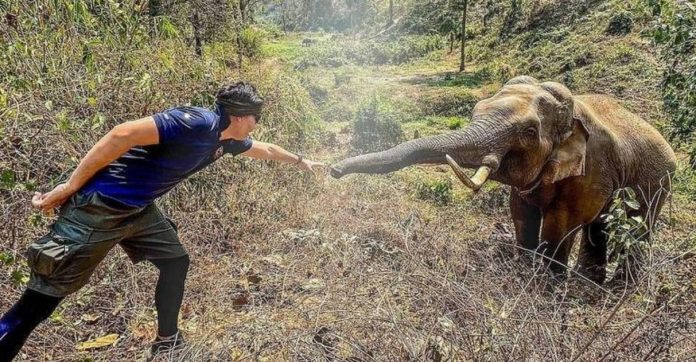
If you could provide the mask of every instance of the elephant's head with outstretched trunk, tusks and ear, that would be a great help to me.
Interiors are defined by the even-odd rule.
[[[524,188],[583,175],[589,133],[574,116],[574,107],[565,86],[519,76],[478,102],[465,129],[345,159],[332,166],[331,174],[340,178],[448,163],[474,190],[489,178]],[[462,167],[477,171],[469,178]]]

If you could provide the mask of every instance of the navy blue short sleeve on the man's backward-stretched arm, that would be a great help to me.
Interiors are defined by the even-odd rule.
[[[159,143],[181,143],[191,137],[215,137],[214,125],[208,117],[188,107],[170,108],[152,116],[159,132]]]

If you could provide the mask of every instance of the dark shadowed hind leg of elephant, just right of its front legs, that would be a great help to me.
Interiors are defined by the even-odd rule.
[[[594,222],[582,230],[582,243],[578,257],[580,273],[597,284],[604,283],[607,271],[606,224]]]

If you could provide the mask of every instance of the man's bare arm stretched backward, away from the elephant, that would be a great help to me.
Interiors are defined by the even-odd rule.
[[[35,208],[49,212],[77,192],[97,171],[119,158],[134,146],[159,143],[159,132],[152,117],[119,124],[102,137],[82,158],[67,182],[45,194],[34,193],[31,200]]]

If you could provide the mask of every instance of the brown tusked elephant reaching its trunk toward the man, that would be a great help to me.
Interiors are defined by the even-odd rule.
[[[674,151],[639,116],[606,95],[574,96],[564,85],[518,76],[479,101],[460,131],[414,139],[331,166],[334,178],[379,174],[414,164],[449,164],[474,191],[487,180],[511,186],[510,214],[517,243],[544,256],[565,275],[582,229],[578,270],[606,279],[607,222],[618,189],[631,187],[652,229],[671,192]],[[469,178],[463,168],[476,169]]]

